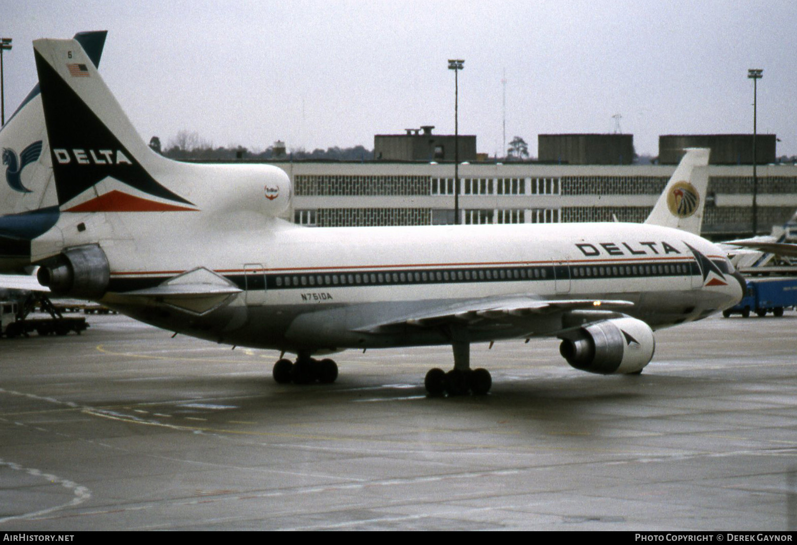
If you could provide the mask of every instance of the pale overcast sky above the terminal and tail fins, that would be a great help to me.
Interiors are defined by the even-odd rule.
[[[478,151],[520,135],[752,132],[750,68],[764,69],[758,130],[797,155],[797,2],[69,2],[0,0],[6,118],[36,82],[31,41],[107,29],[100,73],[139,133],[182,129],[216,146],[373,147],[434,125]]]

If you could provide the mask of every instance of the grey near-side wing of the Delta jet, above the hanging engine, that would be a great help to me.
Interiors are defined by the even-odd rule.
[[[421,312],[414,316],[402,316],[397,319],[373,323],[358,327],[357,331],[375,333],[384,327],[414,326],[438,327],[448,323],[465,326],[477,323],[512,323],[522,322],[541,316],[563,314],[572,311],[605,311],[617,312],[633,307],[634,303],[626,300],[599,299],[557,299],[536,300],[531,297],[507,297],[490,300],[475,300],[453,307],[440,308],[436,311]]]

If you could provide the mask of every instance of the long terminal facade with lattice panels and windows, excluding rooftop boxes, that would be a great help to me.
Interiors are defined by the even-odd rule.
[[[453,223],[453,165],[277,163],[292,178],[293,221],[303,225]],[[752,166],[709,168],[704,233],[752,229]],[[674,165],[470,163],[459,168],[461,223],[642,222]],[[797,210],[797,166],[762,165],[758,223],[768,232]]]

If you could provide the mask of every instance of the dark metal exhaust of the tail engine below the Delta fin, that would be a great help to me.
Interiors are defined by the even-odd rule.
[[[74,246],[41,264],[37,278],[53,295],[100,299],[108,291],[111,267],[100,246]]]

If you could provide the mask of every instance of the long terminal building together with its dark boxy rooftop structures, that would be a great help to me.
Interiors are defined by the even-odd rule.
[[[293,184],[291,218],[319,227],[454,223],[453,136],[434,127],[376,135],[372,161],[276,161]],[[665,135],[659,164],[630,164],[631,135],[540,135],[540,162],[496,162],[460,136],[460,222],[643,222],[684,147],[711,147],[703,233],[752,231],[752,135]],[[759,135],[758,225],[769,233],[797,210],[797,166],[775,163]],[[379,159],[382,157],[383,159]],[[389,158],[389,159],[384,159]]]

